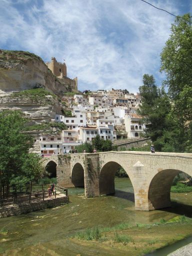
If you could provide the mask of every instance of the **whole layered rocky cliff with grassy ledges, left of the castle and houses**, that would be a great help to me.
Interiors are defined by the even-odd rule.
[[[50,122],[61,114],[60,98],[68,90],[37,55],[0,50],[0,110],[21,110],[31,125]]]

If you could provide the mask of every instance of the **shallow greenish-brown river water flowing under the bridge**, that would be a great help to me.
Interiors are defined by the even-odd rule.
[[[152,223],[176,215],[192,217],[192,192],[172,193],[173,207],[163,210],[135,211],[129,178],[115,178],[115,194],[85,199],[83,188],[69,188],[69,203],[55,208],[0,219],[0,229],[8,233],[0,253],[51,240],[60,240],[86,227],[113,226],[120,222]],[[2,242],[3,241],[3,242]]]

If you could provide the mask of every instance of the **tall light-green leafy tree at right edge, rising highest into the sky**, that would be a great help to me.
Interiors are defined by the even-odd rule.
[[[173,112],[180,124],[184,125],[187,119],[191,120],[191,114],[188,113],[192,110],[192,26],[189,13],[182,17],[184,19],[176,17],[171,25],[171,34],[160,54],[160,71],[166,75],[164,84],[168,86]]]

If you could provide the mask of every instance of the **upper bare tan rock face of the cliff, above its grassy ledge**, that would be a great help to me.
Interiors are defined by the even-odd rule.
[[[0,50],[0,90],[3,92],[45,87],[60,96],[67,91],[42,59],[33,53]]]

